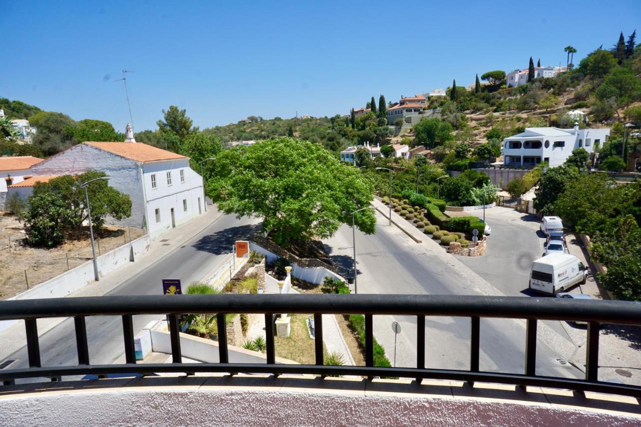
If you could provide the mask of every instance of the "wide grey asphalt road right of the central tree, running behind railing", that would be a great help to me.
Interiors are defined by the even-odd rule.
[[[375,235],[356,233],[358,292],[376,294],[479,294],[466,283],[460,272],[416,244],[400,230],[387,225],[377,214]],[[492,224],[494,228],[494,224]],[[343,226],[326,241],[333,259],[351,269],[352,231]],[[439,248],[436,248],[440,250]],[[457,258],[458,259],[458,258]],[[522,295],[522,294],[521,294]],[[394,364],[392,321],[401,323],[397,337],[395,365],[416,364],[416,320],[408,316],[374,316],[374,336],[385,347]],[[426,367],[469,369],[470,320],[465,317],[430,317],[426,319]],[[483,371],[523,373],[525,329],[523,322],[510,319],[481,319],[481,360]],[[563,364],[556,351],[539,335],[537,374],[581,377],[583,373]]]

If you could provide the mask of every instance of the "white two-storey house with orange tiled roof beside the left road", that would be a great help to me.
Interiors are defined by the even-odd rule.
[[[201,215],[206,209],[203,178],[189,167],[189,158],[136,142],[129,125],[125,136],[126,142],[83,142],[46,160],[29,160],[31,176],[9,185],[8,193],[28,197],[37,182],[99,171],[131,198],[131,217],[113,224],[146,226],[153,239]]]

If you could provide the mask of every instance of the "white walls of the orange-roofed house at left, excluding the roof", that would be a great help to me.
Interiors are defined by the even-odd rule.
[[[112,222],[147,226],[152,239],[204,212],[203,179],[189,167],[188,158],[140,162],[89,144],[78,144],[38,163],[31,168],[33,175],[79,174],[90,170],[105,172],[111,177],[109,185],[131,198],[131,216]],[[168,173],[171,174],[171,183]]]

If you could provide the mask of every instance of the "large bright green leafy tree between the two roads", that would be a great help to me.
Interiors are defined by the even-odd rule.
[[[358,169],[317,144],[291,138],[222,151],[207,183],[223,212],[261,217],[263,229],[283,245],[333,235],[340,224],[351,224],[352,212],[369,205],[373,190]],[[365,233],[376,231],[370,210],[355,220]]]

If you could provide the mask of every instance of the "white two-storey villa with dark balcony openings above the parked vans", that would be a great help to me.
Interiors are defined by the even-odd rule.
[[[594,148],[610,137],[610,129],[526,128],[503,140],[504,165],[533,166],[547,162],[551,167],[565,163],[577,148],[594,153]]]

